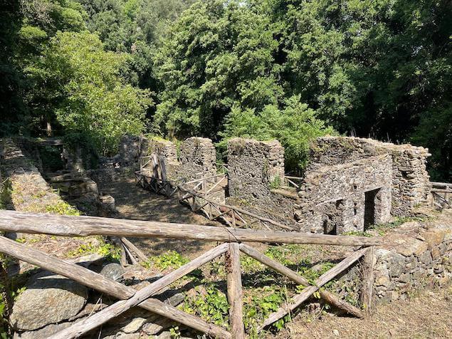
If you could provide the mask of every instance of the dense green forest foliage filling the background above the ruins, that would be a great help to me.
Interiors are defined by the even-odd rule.
[[[452,179],[450,1],[4,2],[4,133],[278,137],[294,169],[334,128],[429,147]]]

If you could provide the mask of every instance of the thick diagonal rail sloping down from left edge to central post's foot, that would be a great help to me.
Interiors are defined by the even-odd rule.
[[[0,252],[13,256],[19,260],[26,261],[29,264],[39,266],[53,273],[60,274],[61,276],[77,281],[88,288],[93,288],[96,291],[114,296],[121,300],[130,298],[137,292],[132,287],[105,278],[105,276],[90,271],[88,268],[61,259],[56,259],[42,251],[30,249],[27,246],[7,239],[4,236],[0,236]],[[178,323],[187,325],[195,330],[213,335],[216,338],[231,338],[231,335],[223,328],[206,323],[206,321],[195,315],[180,311],[178,308],[157,299],[149,298],[146,301],[142,301],[139,306],[152,313],[162,315],[165,318],[170,318]]]

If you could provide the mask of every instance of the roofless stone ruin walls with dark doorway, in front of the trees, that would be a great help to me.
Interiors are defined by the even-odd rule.
[[[134,140],[137,140],[136,137]],[[127,142],[126,142],[127,144]],[[211,140],[190,137],[177,150],[167,140],[122,145],[122,163],[156,154],[167,177],[196,179],[216,173]],[[127,150],[127,152],[126,152]],[[277,140],[228,141],[228,204],[299,231],[343,234],[364,231],[391,217],[409,216],[430,191],[424,147],[357,137],[320,137],[299,187],[285,184],[284,148]]]

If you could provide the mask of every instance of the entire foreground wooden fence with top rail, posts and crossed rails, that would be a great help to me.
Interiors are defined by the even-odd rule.
[[[58,236],[108,235],[119,237],[161,237],[224,242],[214,249],[206,251],[206,253],[190,261],[188,264],[159,278],[149,286],[142,288],[140,291],[136,291],[134,288],[105,278],[99,273],[90,271],[88,268],[71,264],[70,262],[61,259],[56,259],[43,251],[28,248],[23,244],[0,236],[0,251],[2,253],[26,261],[29,264],[39,266],[53,273],[61,274],[84,286],[88,286],[96,291],[120,299],[120,301],[113,303],[102,311],[90,315],[88,318],[85,318],[78,323],[74,323],[65,330],[61,330],[61,332],[56,333],[56,335],[51,337],[53,339],[78,338],[134,306],[140,306],[153,313],[163,315],[178,323],[182,323],[195,330],[204,332],[207,335],[211,335],[214,338],[245,338],[246,334],[243,326],[242,314],[243,303],[241,299],[240,252],[260,261],[274,271],[287,276],[295,283],[305,286],[300,294],[294,296],[290,301],[287,301],[278,309],[278,311],[270,314],[261,325],[261,328],[283,318],[283,316],[300,306],[301,303],[306,301],[317,291],[319,292],[320,297],[327,303],[360,318],[364,316],[364,313],[369,313],[372,307],[372,284],[374,281],[373,256],[374,246],[379,244],[377,239],[361,236],[332,236],[324,234],[303,234],[299,232],[254,231],[251,229],[199,226],[193,224],[171,224],[157,221],[27,214],[5,210],[0,211],[0,231],[51,234]],[[310,283],[308,279],[300,276],[297,272],[292,271],[278,261],[270,259],[253,247],[243,244],[243,241],[363,247],[354,251],[350,256],[347,256],[347,258],[340,261],[335,267],[322,274],[322,276],[314,283]],[[152,298],[152,296],[174,283],[174,281],[177,281],[177,279],[186,276],[186,274],[194,271],[196,268],[199,268],[203,264],[206,264],[223,254],[226,256],[226,286],[229,303],[230,332],[225,328],[207,323],[205,320],[195,315],[191,315],[163,303],[156,298]],[[335,294],[321,289],[325,283],[331,281],[332,278],[335,278],[338,274],[342,273],[342,271],[345,271],[345,269],[358,261],[362,256],[364,256],[364,288],[362,301],[365,312],[350,305],[346,301],[340,300]],[[43,305],[43,307],[45,307],[45,305]]]

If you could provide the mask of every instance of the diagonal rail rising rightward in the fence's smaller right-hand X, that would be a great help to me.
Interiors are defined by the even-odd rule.
[[[297,296],[292,298],[292,302],[288,303],[287,305],[280,307],[278,311],[275,311],[274,313],[271,313],[268,318],[263,322],[263,325],[261,328],[264,328],[272,323],[274,323],[277,320],[280,320],[280,318],[283,318],[284,315],[287,313],[293,311],[295,308],[300,306],[302,303],[304,303],[312,294],[314,294],[320,287],[325,285],[328,281],[330,281],[332,278],[335,278],[339,273],[347,269],[349,266],[354,264],[355,261],[357,261],[359,258],[361,258],[365,251],[367,249],[361,249],[359,251],[355,251],[350,256],[347,256],[344,260],[342,260],[339,264],[337,264],[335,267],[331,268],[329,271],[325,272],[317,278],[315,281],[315,286],[308,286],[308,288],[305,288],[305,290],[298,294]],[[343,306],[345,307],[345,306]],[[352,306],[354,307],[354,306]],[[350,309],[349,313],[352,314],[361,314],[361,311],[356,308],[356,310]],[[362,318],[362,315],[359,317]]]

